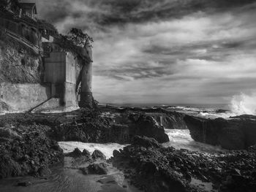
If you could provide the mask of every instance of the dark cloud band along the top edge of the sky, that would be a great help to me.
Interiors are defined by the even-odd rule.
[[[42,18],[58,23],[67,17],[86,18],[98,25],[124,25],[181,18],[194,12],[218,12],[254,0],[45,0],[39,1]],[[80,7],[72,9],[74,4]],[[48,7],[48,9],[45,9]],[[87,9],[83,9],[86,8]],[[91,9],[91,10],[89,10]],[[85,23],[83,23],[85,25]],[[86,25],[85,25],[86,26]]]

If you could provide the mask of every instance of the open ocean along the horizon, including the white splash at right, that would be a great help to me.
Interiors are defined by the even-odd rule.
[[[105,105],[105,104],[103,104]],[[113,107],[162,108],[202,118],[230,118],[237,115],[256,115],[256,93],[233,96],[228,104],[108,104]]]

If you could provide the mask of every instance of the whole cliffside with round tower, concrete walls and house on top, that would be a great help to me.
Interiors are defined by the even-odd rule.
[[[0,113],[92,107],[91,46],[59,47],[58,35],[38,25],[36,4],[20,7],[24,18],[0,14]]]

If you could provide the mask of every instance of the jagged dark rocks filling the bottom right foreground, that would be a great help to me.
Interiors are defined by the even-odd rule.
[[[195,179],[212,183],[219,191],[255,191],[255,158],[253,147],[248,151],[208,154],[129,145],[113,153],[112,161],[143,191],[206,191],[202,185],[192,183]]]

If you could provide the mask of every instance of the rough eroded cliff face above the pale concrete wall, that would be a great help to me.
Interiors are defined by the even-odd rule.
[[[0,82],[38,83],[42,80],[41,57],[0,34]]]

